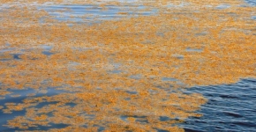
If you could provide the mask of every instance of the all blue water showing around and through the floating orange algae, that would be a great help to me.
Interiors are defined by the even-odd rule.
[[[246,3],[251,6],[256,5],[255,0],[245,0]],[[183,5],[183,4],[181,4]],[[132,6],[131,4],[129,6]],[[109,10],[103,11],[102,7],[87,4],[58,4],[58,5],[41,5],[37,6],[38,10],[44,10],[49,13],[49,17],[56,18],[58,22],[68,22],[68,23],[88,23],[95,24],[101,23],[102,21],[118,20],[120,18],[125,18],[124,14],[129,14],[128,17],[136,18],[138,16],[153,16],[157,15],[158,10],[152,8],[150,10],[144,11],[146,7],[144,5],[132,7],[132,11],[129,11],[131,7],[125,9],[125,6],[108,5]],[[174,6],[171,6],[174,7]],[[230,8],[228,4],[221,4],[216,6],[216,9],[225,10]],[[119,12],[124,12],[124,14],[119,14]],[[84,18],[84,14],[88,14]],[[82,18],[83,17],[83,18]],[[45,23],[47,17],[41,18],[41,23]],[[252,19],[256,19],[252,16]],[[72,24],[71,24],[72,26]],[[203,36],[203,35],[201,35]],[[148,42],[150,43],[150,41]],[[41,47],[42,55],[47,55],[50,57],[56,53],[52,53],[51,46],[43,45]],[[5,53],[15,50],[15,48],[4,48],[0,50],[0,53]],[[185,48],[187,52],[190,53],[201,53],[203,49],[201,48]],[[22,54],[11,54],[13,60],[22,61],[20,55]],[[179,59],[184,59],[184,56],[177,56]],[[11,59],[0,59],[0,62],[8,62]],[[73,62],[71,67],[74,65],[79,65],[78,62]],[[118,65],[118,64],[117,64]],[[118,70],[118,66],[115,65],[115,70],[109,71],[110,74],[120,74],[123,70]],[[72,68],[71,68],[72,69]],[[139,80],[141,75],[132,75],[132,79]],[[47,80],[46,80],[47,81]],[[163,82],[178,82],[175,77],[162,77]],[[28,97],[28,94],[34,94],[34,97],[44,97],[44,96],[55,96],[61,93],[66,93],[66,91],[59,90],[63,88],[64,85],[59,87],[49,87],[43,89],[40,92],[35,91],[32,88],[26,87],[22,90],[19,89],[8,89],[8,94],[6,96],[0,96],[0,105],[4,106],[6,103],[22,103],[24,99],[32,99],[33,97]],[[1,88],[1,81],[0,81]],[[100,88],[99,88],[100,89]],[[171,89],[171,87],[169,87]],[[127,91],[130,94],[138,94],[136,91]],[[207,103],[200,106],[200,110],[196,113],[202,114],[201,117],[189,117],[185,119],[182,123],[177,123],[177,126],[184,128],[185,131],[256,131],[256,79],[255,78],[241,78],[237,83],[234,84],[220,84],[220,85],[205,85],[205,86],[193,86],[187,89],[181,89],[185,95],[191,95],[192,93],[200,93],[204,98],[207,99]],[[19,96],[16,96],[18,95]],[[43,106],[49,106],[56,104],[55,101],[42,102],[36,106],[32,106],[36,109],[40,109]],[[64,106],[75,106],[76,104],[65,104]],[[4,106],[7,108],[7,106]],[[4,111],[0,111],[0,131],[15,131],[24,130],[22,128],[8,128],[4,125],[8,123],[9,120],[14,119],[17,116],[22,116],[26,114],[25,110],[14,111],[11,114],[5,114]],[[50,115],[49,115],[50,116]],[[88,117],[94,117],[93,114],[88,114]],[[129,116],[121,116],[121,120],[126,121]],[[132,116],[133,118],[139,119],[140,123],[147,123],[146,116]],[[160,121],[169,121],[168,117],[161,116]],[[66,128],[69,125],[64,123],[50,123],[50,126],[40,126],[31,127],[26,130],[49,130],[50,128]],[[87,126],[85,126],[87,128]],[[98,131],[103,131],[105,128],[99,126]],[[157,129],[159,132],[164,132],[166,130]]]

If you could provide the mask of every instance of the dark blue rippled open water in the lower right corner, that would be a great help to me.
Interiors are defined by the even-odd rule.
[[[208,99],[201,106],[200,118],[189,118],[181,126],[185,131],[256,131],[256,79],[236,84],[192,87]]]

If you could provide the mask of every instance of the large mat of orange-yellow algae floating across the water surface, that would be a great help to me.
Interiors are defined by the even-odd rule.
[[[29,1],[20,1],[22,7],[9,2],[3,1],[11,8],[1,13],[0,44],[18,49],[0,52],[0,95],[33,88],[42,96],[28,93],[22,103],[5,104],[6,114],[26,111],[8,121],[8,127],[53,123],[69,126],[60,131],[183,131],[173,124],[202,116],[195,112],[207,99],[180,89],[256,77],[256,25],[245,13],[255,7],[240,7],[241,1],[186,0],[190,4],[170,9],[170,4],[182,4],[138,0],[134,4],[154,6],[158,14],[91,26],[58,22],[46,11],[26,6]],[[219,4],[230,8],[215,9]],[[42,16],[45,23],[38,20]],[[51,90],[63,92],[48,96]],[[162,116],[169,120],[161,121]]]

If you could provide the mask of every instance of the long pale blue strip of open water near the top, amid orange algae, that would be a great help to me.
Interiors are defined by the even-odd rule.
[[[49,16],[56,18],[58,21],[77,23],[98,23],[101,20],[118,20],[124,17],[149,16],[157,13],[157,9],[143,11],[146,9],[144,5],[106,5],[100,7],[94,4],[58,4],[38,6],[38,9],[47,11]],[[41,22],[44,22],[44,18],[41,18]]]

